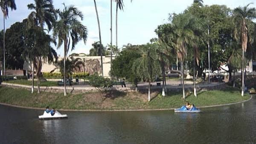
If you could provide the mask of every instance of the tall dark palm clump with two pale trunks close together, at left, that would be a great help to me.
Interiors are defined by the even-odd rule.
[[[52,23],[55,22],[56,13],[55,9],[52,5],[52,0],[34,0],[34,3],[28,5],[28,9],[32,10],[32,12],[28,16],[28,30],[29,34],[33,34],[30,37],[34,38],[33,42],[33,51],[34,55],[28,56],[29,60],[32,61],[32,92],[34,91],[34,68],[36,68],[36,75],[38,79],[38,93],[40,93],[40,77],[41,77],[41,69],[42,69],[42,60],[45,59],[45,54],[49,54],[49,57],[52,58],[53,51],[41,51],[40,49],[47,50],[52,49],[49,42],[54,42],[49,35],[44,33],[44,25],[46,24],[48,27],[48,31],[52,28]],[[44,40],[41,40],[44,39]],[[31,40],[28,40],[31,41]],[[47,46],[44,48],[42,46]],[[37,50],[35,50],[37,49]],[[52,53],[53,52],[53,53]],[[49,60],[50,62],[50,60]]]

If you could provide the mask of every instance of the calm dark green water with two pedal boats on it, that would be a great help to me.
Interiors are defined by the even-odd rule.
[[[38,120],[41,110],[0,105],[0,144],[254,144],[256,98],[199,114],[169,111],[61,112],[68,119]]]

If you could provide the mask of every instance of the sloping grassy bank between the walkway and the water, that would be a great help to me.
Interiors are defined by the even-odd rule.
[[[157,95],[157,93],[152,95],[155,97],[148,103],[146,93],[113,91],[102,102],[98,92],[69,94],[68,96],[63,96],[63,93],[42,92],[38,95],[37,93],[31,94],[26,89],[0,86],[1,103],[26,107],[44,108],[49,105],[57,109],[77,110],[162,109],[180,107],[185,102],[180,93],[169,92],[169,96],[165,97]],[[186,101],[194,103],[196,106],[209,106],[240,102],[249,98],[249,95],[242,97],[237,89],[227,88],[226,90],[202,91],[198,93],[197,98],[191,94]]]

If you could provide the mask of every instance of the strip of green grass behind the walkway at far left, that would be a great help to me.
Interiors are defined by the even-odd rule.
[[[32,85],[32,81],[28,81],[26,79],[19,79],[19,80],[10,80],[10,81],[4,81],[6,83],[11,84],[19,84],[19,85]],[[37,81],[34,82],[35,85],[37,85]],[[58,86],[57,81],[40,81],[40,86]]]

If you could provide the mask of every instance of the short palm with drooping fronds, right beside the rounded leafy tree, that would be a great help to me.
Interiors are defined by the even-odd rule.
[[[151,47],[150,44],[144,45],[142,48],[142,57],[135,59],[133,64],[133,71],[137,76],[143,81],[148,81],[148,102],[151,100],[151,82],[160,72],[159,62],[157,62],[157,59],[154,57],[156,55],[154,47]]]

